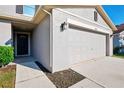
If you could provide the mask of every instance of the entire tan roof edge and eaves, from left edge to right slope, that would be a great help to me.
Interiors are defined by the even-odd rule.
[[[110,18],[107,16],[107,14],[103,10],[102,6],[100,6],[100,5],[41,5],[41,6],[39,6],[37,12],[35,13],[34,17],[31,20],[23,20],[23,19],[18,19],[17,17],[5,16],[5,15],[0,16],[0,18],[18,22],[19,24],[22,25],[22,27],[24,26],[24,28],[30,29],[31,27],[35,28],[36,25],[38,25],[44,19],[44,17],[47,15],[47,13],[45,13],[42,9],[45,9],[47,11],[51,11],[53,8],[75,8],[75,7],[76,8],[82,8],[82,7],[96,8],[97,11],[99,12],[99,14],[102,16],[102,18],[108,24],[108,26],[113,31],[117,30],[115,25],[112,23],[112,21],[110,20]],[[28,26],[28,24],[30,24],[30,25]]]

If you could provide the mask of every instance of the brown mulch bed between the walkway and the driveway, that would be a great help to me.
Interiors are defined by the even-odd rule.
[[[36,64],[46,74],[46,76],[55,84],[57,88],[68,88],[76,84],[77,82],[85,79],[84,76],[73,71],[72,69],[50,73],[40,63],[36,62]]]

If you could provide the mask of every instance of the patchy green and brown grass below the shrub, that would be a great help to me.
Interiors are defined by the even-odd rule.
[[[0,68],[0,88],[14,88],[15,76],[15,67]]]

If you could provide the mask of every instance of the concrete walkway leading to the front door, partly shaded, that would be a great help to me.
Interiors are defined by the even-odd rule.
[[[24,61],[24,60],[23,60]],[[34,61],[17,63],[16,88],[54,88]]]

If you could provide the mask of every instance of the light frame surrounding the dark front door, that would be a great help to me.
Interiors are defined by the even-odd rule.
[[[26,34],[28,35],[28,54],[27,55],[17,55],[17,34]],[[30,53],[30,32],[15,32],[15,56],[18,57],[18,56],[30,56],[31,53]]]

